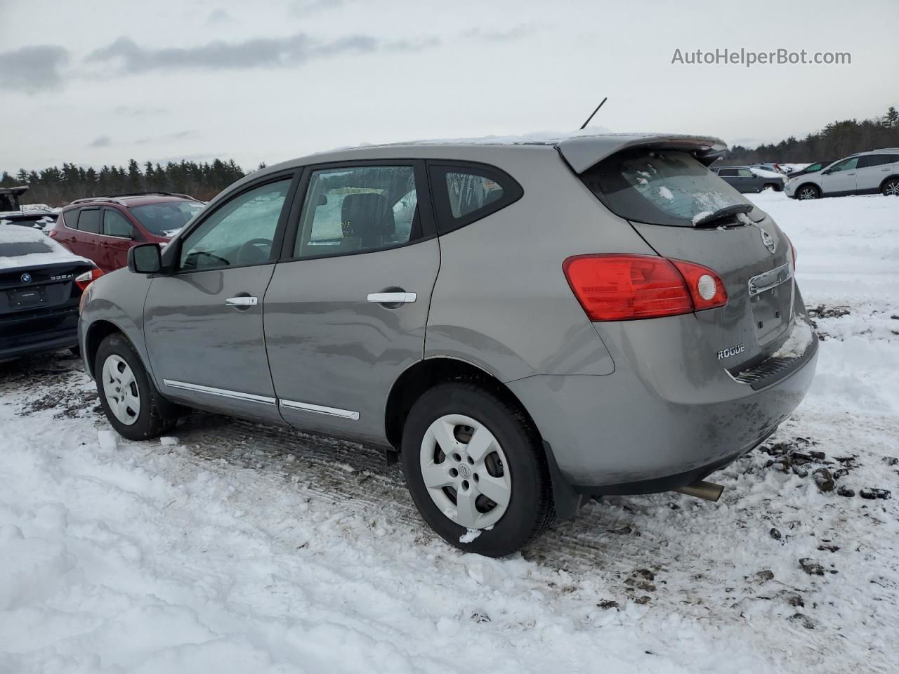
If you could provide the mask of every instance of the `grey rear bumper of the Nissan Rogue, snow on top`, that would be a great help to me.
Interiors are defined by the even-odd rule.
[[[617,365],[627,361],[616,358]],[[796,367],[759,390],[723,368],[714,382],[681,370],[682,395],[670,395],[672,382],[655,386],[652,377],[663,372],[645,363],[608,376],[535,376],[507,386],[576,491],[663,492],[702,479],[770,436],[802,402],[816,362],[815,337]]]

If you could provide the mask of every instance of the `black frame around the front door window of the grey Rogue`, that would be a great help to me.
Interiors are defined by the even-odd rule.
[[[200,218],[196,222],[194,222],[190,228],[185,227],[181,232],[174,236],[170,244],[167,245],[165,247],[165,250],[163,251],[164,271],[160,272],[160,275],[186,276],[188,274],[200,274],[205,271],[225,271],[232,269],[244,269],[245,267],[260,267],[264,264],[273,264],[275,262],[278,262],[278,252],[281,250],[281,246],[283,245],[285,227],[288,226],[290,217],[292,217],[293,215],[294,206],[297,201],[297,188],[302,173],[303,169],[301,166],[286,169],[278,173],[271,173],[270,175],[263,176],[258,180],[255,180],[254,182],[248,182],[239,190],[233,191],[228,194],[227,198],[215,204],[215,208],[211,208],[203,212],[200,215]],[[272,182],[281,182],[285,180],[289,180],[290,182],[287,190],[287,195],[284,197],[284,204],[281,206],[280,216],[278,217],[278,224],[275,226],[274,238],[272,238],[271,240],[271,253],[269,253],[268,260],[264,262],[252,262],[250,264],[232,264],[223,265],[220,267],[203,267],[202,269],[179,269],[179,265],[181,264],[181,249],[184,244],[184,240],[187,239],[188,236],[193,234],[193,232],[198,227],[202,226],[203,223],[205,223],[206,220],[209,219],[209,217],[214,216],[216,213],[218,213],[218,210],[220,208],[226,207],[227,204],[229,204],[231,201],[236,200],[238,197],[241,197],[248,191],[256,190],[260,187],[271,184]]]

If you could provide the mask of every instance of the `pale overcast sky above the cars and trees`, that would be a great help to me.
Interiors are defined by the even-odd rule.
[[[754,146],[899,105],[895,7],[0,0],[0,170],[215,156],[247,169],[569,130],[603,96],[596,123],[614,131]],[[851,65],[672,65],[675,49],[725,48],[848,51]]]

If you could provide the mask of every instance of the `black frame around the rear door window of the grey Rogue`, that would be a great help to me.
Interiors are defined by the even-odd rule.
[[[293,254],[299,235],[299,226],[303,220],[303,209],[306,206],[306,195],[309,183],[312,182],[312,174],[316,171],[329,171],[342,168],[358,168],[361,166],[412,166],[415,176],[415,193],[418,198],[418,217],[422,221],[422,235],[417,239],[410,239],[405,244],[369,248],[364,251],[346,251],[345,253],[322,253],[321,255],[304,255],[297,257]],[[425,162],[421,158],[407,159],[345,159],[340,162],[325,162],[323,164],[309,164],[303,169],[294,207],[290,209],[288,229],[285,232],[281,254],[278,262],[303,262],[305,260],[321,260],[329,257],[346,257],[348,255],[361,255],[365,253],[378,253],[381,251],[394,251],[410,245],[421,244],[437,235],[437,227],[434,221],[434,211],[431,201],[431,191],[428,184],[428,175]]]

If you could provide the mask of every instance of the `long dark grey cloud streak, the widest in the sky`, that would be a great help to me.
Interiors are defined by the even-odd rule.
[[[316,58],[345,53],[417,51],[439,43],[436,38],[385,41],[364,34],[324,41],[316,40],[307,33],[296,33],[280,38],[254,38],[241,42],[216,40],[197,47],[152,49],[140,47],[134,40],[121,37],[106,47],[95,49],[86,60],[90,63],[118,63],[121,72],[126,74],[152,70],[226,70],[296,66]]]

